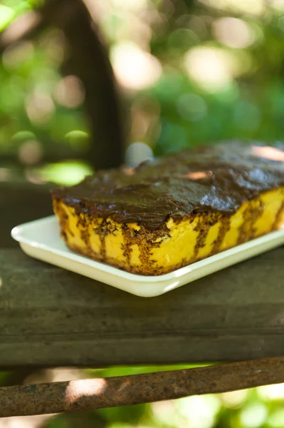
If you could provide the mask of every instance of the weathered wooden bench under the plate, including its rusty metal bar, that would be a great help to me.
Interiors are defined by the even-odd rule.
[[[19,185],[0,190],[6,195],[0,201],[1,368],[244,361],[127,380],[75,381],[89,383],[79,389],[75,384],[71,399],[65,392],[72,382],[0,388],[0,416],[284,382],[284,247],[166,295],[136,297],[24,255],[9,238],[11,218],[16,225],[49,214],[49,195],[46,188],[22,186],[16,210]],[[247,361],[268,357],[274,358]],[[98,389],[99,381],[108,382],[108,394]]]

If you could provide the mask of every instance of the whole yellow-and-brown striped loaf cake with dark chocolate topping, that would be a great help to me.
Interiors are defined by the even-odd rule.
[[[225,141],[52,191],[68,247],[161,275],[284,223],[284,144]]]

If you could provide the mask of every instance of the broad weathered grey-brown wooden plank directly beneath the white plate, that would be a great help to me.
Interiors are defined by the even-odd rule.
[[[284,354],[284,248],[145,299],[0,249],[0,366]]]

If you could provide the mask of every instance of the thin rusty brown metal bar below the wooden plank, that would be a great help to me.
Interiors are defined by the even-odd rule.
[[[284,357],[0,388],[0,417],[141,404],[284,382]]]

